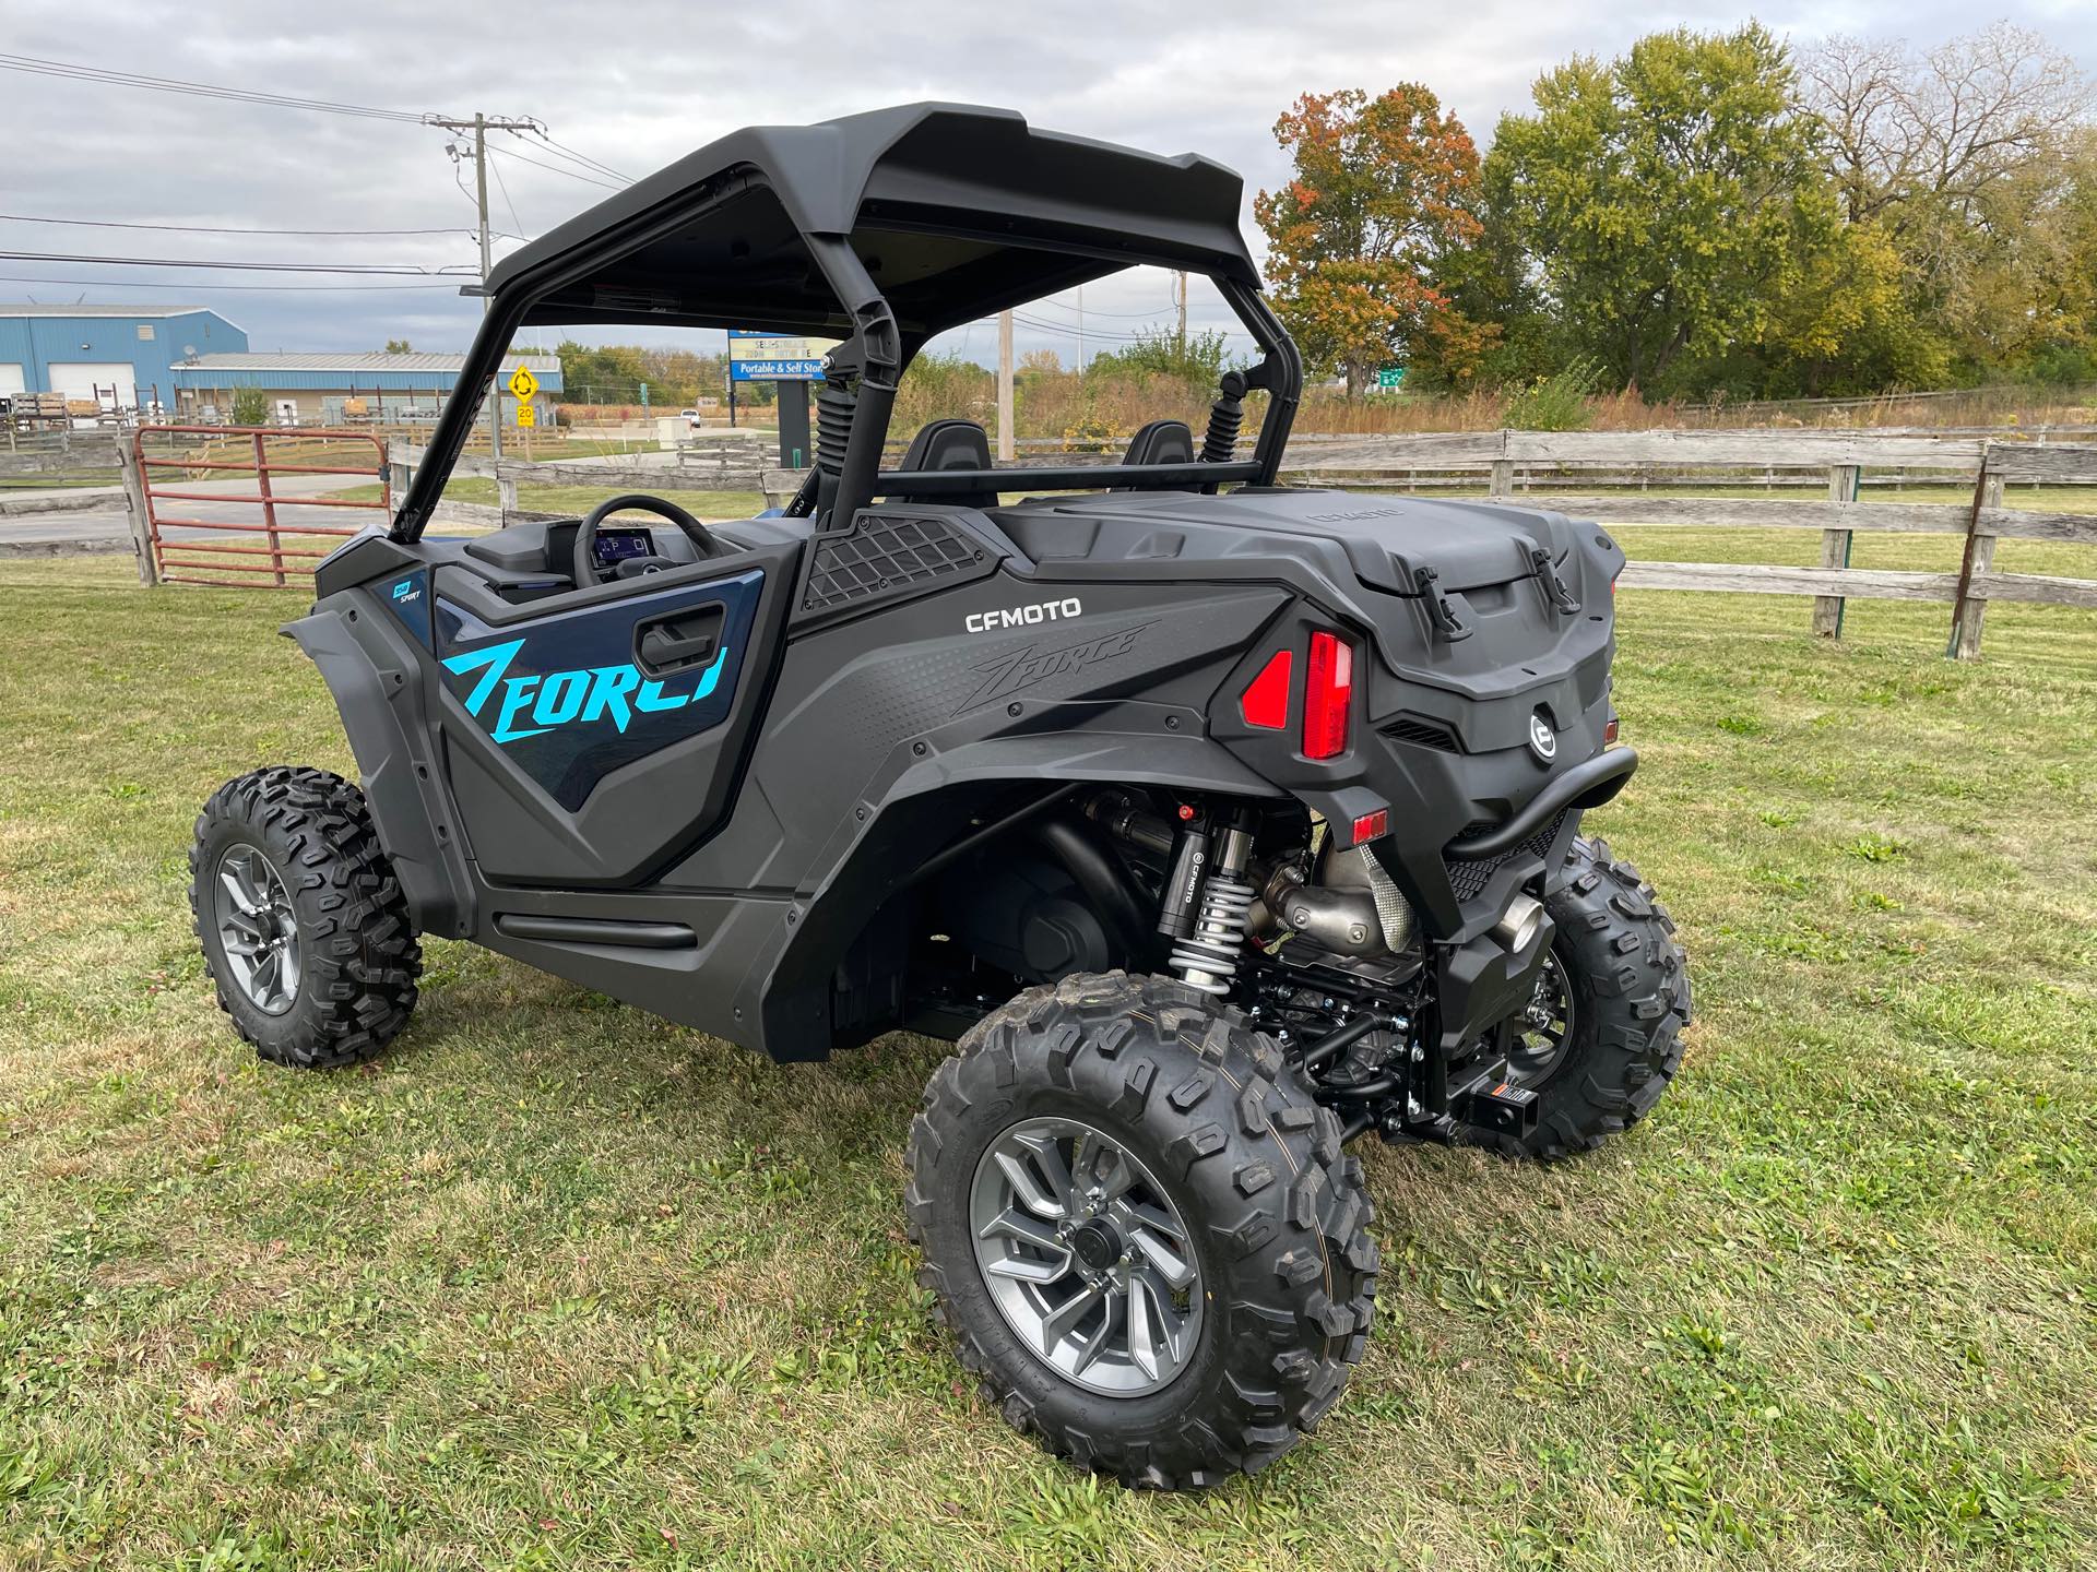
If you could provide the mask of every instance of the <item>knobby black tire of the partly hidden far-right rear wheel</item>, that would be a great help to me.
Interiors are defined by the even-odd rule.
[[[1552,956],[1571,996],[1571,1029],[1556,1061],[1525,1084],[1537,1092],[1527,1138],[1478,1132],[1514,1157],[1569,1157],[1638,1123],[1682,1067],[1690,977],[1676,924],[1652,885],[1608,843],[1575,838],[1566,885],[1545,901],[1558,935]]]

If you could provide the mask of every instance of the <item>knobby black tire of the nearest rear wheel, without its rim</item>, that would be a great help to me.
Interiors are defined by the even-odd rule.
[[[1076,1119],[1118,1142],[1187,1224],[1199,1320],[1179,1373],[1107,1396],[1034,1352],[992,1300],[971,1184],[1000,1134]],[[1021,1434],[1149,1488],[1281,1457],[1359,1362],[1378,1247],[1361,1163],[1275,1044],[1160,977],[1067,977],[979,1021],[910,1128],[910,1237],[960,1362]],[[1191,1293],[1189,1293],[1191,1297]]]

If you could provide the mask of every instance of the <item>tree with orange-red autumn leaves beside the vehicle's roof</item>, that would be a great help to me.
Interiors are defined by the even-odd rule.
[[[1491,329],[1457,321],[1436,285],[1478,237],[1478,149],[1462,122],[1405,82],[1376,99],[1306,92],[1275,122],[1275,140],[1296,176],[1252,212],[1275,310],[1309,363],[1344,371],[1355,398],[1369,371],[1424,350],[1430,333],[1443,354],[1474,358]]]

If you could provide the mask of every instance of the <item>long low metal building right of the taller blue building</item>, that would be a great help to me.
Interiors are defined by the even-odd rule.
[[[503,377],[528,365],[547,394],[560,392],[560,356],[514,354]],[[382,421],[405,425],[434,421],[438,407],[459,386],[463,354],[197,354],[172,367],[176,417],[222,421],[233,394],[260,388],[268,419],[279,425],[342,425]],[[516,400],[503,394],[503,413]]]

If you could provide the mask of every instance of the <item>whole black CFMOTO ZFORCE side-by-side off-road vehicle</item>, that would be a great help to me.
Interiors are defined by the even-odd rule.
[[[197,824],[239,1031],[365,1058],[442,935],[778,1061],[954,1038],[908,1220],[990,1398],[1132,1484],[1285,1453],[1369,1331],[1344,1142],[1594,1147],[1676,1073],[1690,994],[1579,836],[1638,763],[1623,553],[1277,486],[1302,371],[1237,212],[1208,159],[914,105],[736,132],[503,262],[461,388],[535,323],[837,337],[818,461],[782,516],[619,497],[436,539],[453,398],[287,629],[363,786],[262,769]],[[944,419],[883,467],[929,337],[1132,264],[1212,279],[1260,346],[1199,436],[1013,472]]]

